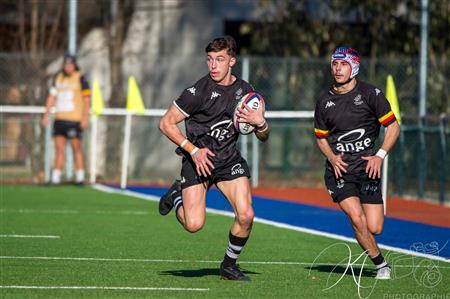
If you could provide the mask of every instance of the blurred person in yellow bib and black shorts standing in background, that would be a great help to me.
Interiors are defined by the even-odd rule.
[[[55,144],[55,162],[51,183],[61,183],[61,173],[64,168],[64,155],[67,140],[70,140],[75,158],[75,183],[84,183],[84,157],[81,148],[83,129],[89,124],[91,90],[81,75],[76,58],[66,55],[63,69],[52,83],[45,105],[42,126],[47,127],[49,113],[55,106],[55,121],[53,123],[53,140]]]

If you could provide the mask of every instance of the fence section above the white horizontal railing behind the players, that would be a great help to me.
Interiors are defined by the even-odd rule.
[[[0,52],[0,105],[43,105],[49,79],[60,69],[60,61],[61,55],[57,54],[46,53],[33,58],[25,54]],[[96,61],[88,54],[78,57],[78,61],[88,79],[95,76],[100,82],[109,82],[110,74],[103,69],[94,69],[92,65]],[[127,70],[132,73],[123,74],[123,85],[126,87],[128,75],[135,76],[145,106],[167,108],[183,88],[206,74],[204,61],[203,56],[161,56],[156,65],[148,63],[148,67]],[[144,61],[142,63],[145,64]],[[268,99],[268,110],[313,110],[317,98],[332,83],[328,59],[245,56],[238,59],[235,67],[238,75],[243,75],[246,63],[247,78]],[[402,113],[418,115],[418,66],[416,58],[363,58],[358,78],[383,90],[387,75],[393,75]],[[450,113],[447,107],[450,96],[447,83],[450,80],[449,69],[450,65],[439,68],[431,63],[429,65],[427,109],[431,115]],[[109,101],[108,98],[105,100]]]

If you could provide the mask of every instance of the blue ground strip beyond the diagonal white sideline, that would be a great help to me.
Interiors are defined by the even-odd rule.
[[[161,196],[167,190],[163,187],[127,189],[156,196]],[[208,192],[206,206],[232,211],[217,189]],[[347,217],[339,210],[259,196],[253,196],[253,207],[258,218],[354,238]],[[449,228],[386,217],[383,233],[376,239],[384,245],[450,258]]]

